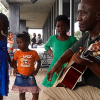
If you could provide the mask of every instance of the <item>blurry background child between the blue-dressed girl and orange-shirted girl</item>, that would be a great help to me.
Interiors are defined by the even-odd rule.
[[[8,47],[8,53],[10,55],[11,61],[13,60],[13,45],[14,45],[14,39],[13,39],[13,33],[8,32],[7,36],[7,47]],[[13,68],[9,66],[9,75],[11,75],[13,72]]]

